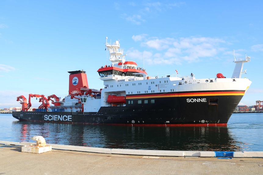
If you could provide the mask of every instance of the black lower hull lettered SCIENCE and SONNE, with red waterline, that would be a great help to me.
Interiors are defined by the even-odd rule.
[[[13,112],[20,121],[128,126],[227,126],[243,95],[149,98],[154,103],[100,107],[98,112]],[[127,101],[128,101],[127,100]]]

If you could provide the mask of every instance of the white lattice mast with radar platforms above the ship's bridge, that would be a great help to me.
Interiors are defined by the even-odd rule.
[[[123,54],[123,49],[120,48],[119,41],[115,41],[114,43],[111,43],[111,42],[107,43],[107,39],[108,39],[108,37],[106,37],[105,46],[107,47],[107,50],[110,53],[111,64],[114,65],[116,63],[117,64],[118,63],[122,63],[122,67],[121,68],[124,68],[123,63],[125,62],[126,54],[125,55]]]

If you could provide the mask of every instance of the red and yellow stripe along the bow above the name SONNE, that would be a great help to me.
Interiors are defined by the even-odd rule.
[[[149,94],[149,95],[127,95],[127,99],[139,98],[162,98],[162,97],[187,97],[187,96],[243,96],[245,91],[230,91],[230,92],[190,92],[190,93],[163,93],[163,94]]]

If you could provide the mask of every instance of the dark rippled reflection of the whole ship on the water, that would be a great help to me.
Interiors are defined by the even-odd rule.
[[[41,135],[47,143],[119,149],[240,151],[227,127],[125,127],[14,122],[20,141]]]

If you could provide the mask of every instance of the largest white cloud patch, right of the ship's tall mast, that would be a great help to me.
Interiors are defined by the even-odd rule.
[[[224,52],[225,48],[221,47],[225,44],[225,40],[210,37],[187,37],[187,38],[163,38],[156,37],[146,38],[147,35],[136,35],[132,39],[141,41],[142,47],[152,49],[148,51],[145,60],[149,64],[182,64],[183,62],[197,62],[200,58],[211,58],[220,52]],[[137,49],[129,49],[129,56],[135,58],[135,55],[142,57],[142,52]],[[137,57],[138,58],[138,57]]]

